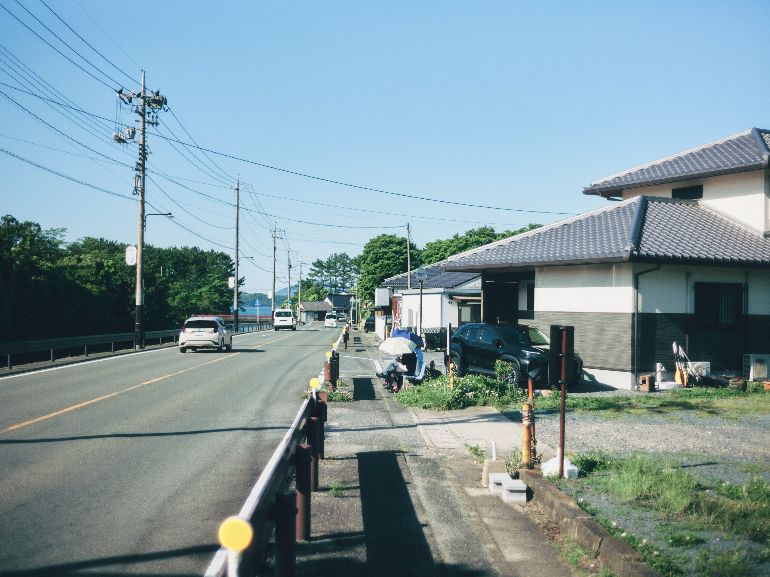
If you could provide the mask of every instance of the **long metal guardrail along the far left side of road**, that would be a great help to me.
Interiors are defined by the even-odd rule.
[[[238,332],[255,332],[272,329],[272,322],[244,322],[239,324]],[[174,342],[179,340],[181,329],[168,329],[165,331],[145,332],[144,342],[158,339],[158,344],[163,344],[163,339],[172,337]],[[51,362],[56,360],[56,351],[60,349],[72,349],[83,347],[83,355],[89,355],[89,346],[105,345],[110,343],[110,352],[115,352],[115,343],[132,342],[133,348],[142,345],[136,332],[116,332],[112,335],[88,335],[79,337],[64,337],[63,339],[41,339],[37,341],[0,342],[0,355],[6,355],[8,369],[13,369],[13,355],[25,352],[50,351]]]

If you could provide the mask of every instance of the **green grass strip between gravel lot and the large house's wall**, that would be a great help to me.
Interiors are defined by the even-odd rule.
[[[675,411],[693,411],[705,417],[770,413],[770,391],[765,391],[761,383],[749,385],[746,391],[693,387],[652,395],[567,395],[566,406],[567,411],[605,412],[604,416],[608,417],[621,414],[666,415]],[[559,395],[542,395],[535,398],[535,409],[557,411],[559,403]]]

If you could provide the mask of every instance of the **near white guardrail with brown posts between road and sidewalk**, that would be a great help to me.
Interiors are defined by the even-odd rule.
[[[283,435],[238,514],[241,519],[246,519],[254,530],[251,544],[240,560],[239,575],[255,575],[263,562],[275,526],[273,509],[276,494],[291,484],[296,469],[296,449],[307,438],[306,425],[315,411],[316,402],[313,398],[305,399],[300,412],[296,414],[286,435]],[[205,577],[223,577],[227,572],[227,562],[227,550],[219,549],[206,570]]]

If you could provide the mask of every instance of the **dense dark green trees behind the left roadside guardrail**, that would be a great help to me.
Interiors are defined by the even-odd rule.
[[[67,243],[64,233],[11,215],[0,219],[3,341],[134,330],[136,268],[126,265],[127,245],[105,238]],[[229,314],[229,255],[146,245],[144,263],[147,330],[172,329],[193,314]]]

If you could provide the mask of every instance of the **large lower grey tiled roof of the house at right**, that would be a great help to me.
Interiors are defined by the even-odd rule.
[[[638,196],[451,256],[443,268],[650,258],[770,265],[770,238],[701,201]]]

